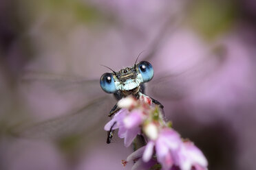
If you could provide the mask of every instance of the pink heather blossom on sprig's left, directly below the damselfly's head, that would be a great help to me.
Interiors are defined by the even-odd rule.
[[[111,126],[113,130],[118,130],[118,136],[120,138],[125,138],[125,147],[129,147],[137,134],[140,134],[140,124],[143,121],[143,115],[140,110],[133,110],[129,112],[127,109],[121,109],[117,112],[113,119],[109,121],[104,129],[109,131]]]

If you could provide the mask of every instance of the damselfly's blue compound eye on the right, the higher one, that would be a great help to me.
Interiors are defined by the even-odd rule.
[[[142,75],[143,82],[149,82],[153,78],[153,66],[149,62],[140,62],[138,68]]]

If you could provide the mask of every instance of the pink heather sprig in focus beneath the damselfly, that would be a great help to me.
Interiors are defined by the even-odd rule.
[[[133,170],[207,169],[208,162],[202,151],[191,141],[183,140],[171,123],[164,121],[162,109],[152,104],[149,97],[125,97],[118,102],[118,107],[122,109],[105,125],[105,130],[118,129],[118,136],[125,139],[125,147],[129,147],[138,134],[147,141],[125,160],[125,164],[135,162]]]

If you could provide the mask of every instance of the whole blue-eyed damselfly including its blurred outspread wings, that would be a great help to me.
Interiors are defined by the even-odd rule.
[[[215,64],[212,65],[211,63]],[[202,66],[206,65],[211,66],[208,66],[207,69],[202,69]],[[127,95],[134,95],[134,97],[138,98],[141,95],[145,95],[145,90],[147,90],[151,96],[158,99],[178,101],[189,95],[191,91],[193,92],[192,84],[184,80],[190,78],[202,81],[204,77],[211,75],[220,66],[222,66],[220,60],[206,58],[206,60],[199,62],[189,71],[184,71],[184,73],[180,74],[166,71],[156,75],[156,78],[151,80],[154,75],[151,64],[149,62],[136,64],[135,62],[134,66],[121,69],[118,72],[112,71],[112,73],[103,74],[100,82],[103,90],[114,94],[117,100]],[[195,72],[199,74],[195,74]],[[54,141],[65,138],[65,136],[78,135],[87,140],[89,135],[96,134],[96,130],[102,131],[103,125],[107,123],[104,113],[116,101],[111,95],[107,95],[100,89],[98,82],[98,79],[87,80],[84,77],[26,71],[22,77],[23,87],[21,87],[21,89],[25,90],[25,95],[32,93],[32,95],[38,97],[41,95],[39,85],[45,86],[47,89],[54,91],[54,93],[58,93],[59,97],[66,99],[72,106],[70,107],[72,110],[66,110],[67,114],[45,121],[29,122],[28,125],[25,124],[16,128],[14,134],[25,136],[26,138],[50,138]],[[146,82],[149,83],[145,84]],[[35,90],[31,92],[27,89]],[[150,99],[153,103],[162,107],[162,104],[157,100]],[[54,104],[54,101],[52,104]],[[45,108],[49,108],[48,111],[51,111],[50,107],[45,106]],[[116,111],[118,111],[118,107],[114,105],[109,112],[109,116],[111,117]],[[113,134],[114,131],[109,131],[107,139],[109,143]]]

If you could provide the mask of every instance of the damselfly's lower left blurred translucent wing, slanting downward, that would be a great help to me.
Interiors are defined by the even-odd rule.
[[[87,106],[70,114],[47,121],[19,127],[16,134],[25,138],[58,139],[65,136],[89,134],[107,121],[109,106],[114,104],[111,97],[101,97]]]

